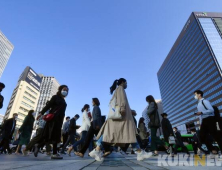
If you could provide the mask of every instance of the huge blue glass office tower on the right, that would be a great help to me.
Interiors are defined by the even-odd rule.
[[[222,110],[221,66],[222,13],[193,12],[157,73],[163,109],[173,126],[184,133],[199,127],[196,89]]]

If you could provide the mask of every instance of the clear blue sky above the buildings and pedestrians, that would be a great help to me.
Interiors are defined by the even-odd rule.
[[[147,95],[161,99],[157,72],[191,13],[221,7],[221,0],[0,0],[0,30],[14,45],[0,79],[6,85],[0,114],[30,66],[69,86],[71,117],[94,97],[107,115],[109,88],[125,78],[139,119]]]

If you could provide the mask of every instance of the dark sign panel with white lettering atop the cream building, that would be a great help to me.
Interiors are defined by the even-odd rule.
[[[33,86],[36,90],[38,91],[40,90],[42,78],[33,69],[31,69],[31,67],[26,67],[19,81],[21,80],[26,81],[31,86]]]

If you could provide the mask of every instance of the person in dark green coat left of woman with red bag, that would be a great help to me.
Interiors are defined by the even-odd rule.
[[[33,130],[33,124],[35,121],[34,116],[35,116],[34,110],[30,110],[28,112],[28,115],[25,117],[22,126],[19,128],[18,133],[20,133],[20,140],[15,154],[19,154],[22,145],[28,145],[28,143],[30,142]]]

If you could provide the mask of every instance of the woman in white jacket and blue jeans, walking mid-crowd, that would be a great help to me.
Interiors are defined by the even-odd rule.
[[[80,144],[83,144],[86,141],[86,135],[90,128],[90,119],[88,116],[89,109],[90,109],[90,106],[88,104],[85,104],[82,108],[83,118],[82,118],[82,126],[80,127],[81,139],[75,142],[73,146],[71,146],[68,149],[69,155],[72,150],[77,151],[77,146],[79,146]]]

